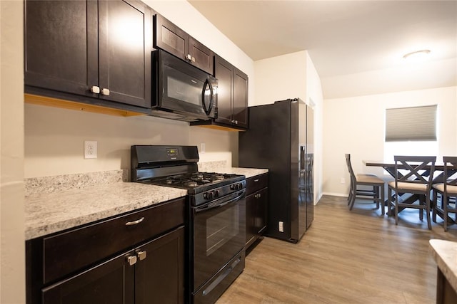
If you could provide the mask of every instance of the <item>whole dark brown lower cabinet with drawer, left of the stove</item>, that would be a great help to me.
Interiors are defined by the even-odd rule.
[[[26,241],[26,303],[184,303],[185,203]]]

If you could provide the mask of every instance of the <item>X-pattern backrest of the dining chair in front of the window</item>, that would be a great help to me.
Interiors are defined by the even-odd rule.
[[[400,156],[393,157],[395,161],[395,184],[407,182],[413,184],[427,184],[431,189],[435,173],[436,156]]]

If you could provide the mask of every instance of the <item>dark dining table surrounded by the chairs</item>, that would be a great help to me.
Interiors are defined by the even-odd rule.
[[[395,162],[393,160],[391,161],[371,161],[371,160],[363,160],[363,164],[365,164],[367,167],[382,167],[388,174],[391,174],[391,176],[395,179]],[[398,168],[401,169],[401,164],[398,164]],[[427,165],[424,167],[425,170],[423,170],[422,175],[423,176],[428,176],[430,174],[430,169],[431,165]],[[457,173],[457,170],[448,170],[449,176],[452,174]],[[401,172],[398,172],[398,174],[401,174]],[[435,163],[435,172],[433,173],[433,184],[439,184],[444,182],[444,163],[443,162],[436,162]],[[404,204],[413,204],[415,201],[418,200],[418,195],[417,194],[401,194],[401,200]],[[433,204],[433,202],[432,202]],[[393,209],[391,210],[390,205],[388,204],[388,199],[385,201],[385,206],[387,206],[388,211],[387,214],[391,215]],[[404,208],[399,208],[398,212],[403,210]],[[438,214],[440,214],[438,212]],[[443,218],[443,214],[440,214],[441,218]],[[448,222],[449,223],[454,223],[453,219],[448,216]]]

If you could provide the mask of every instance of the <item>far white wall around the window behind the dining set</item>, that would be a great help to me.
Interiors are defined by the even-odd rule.
[[[363,160],[382,160],[386,108],[438,104],[438,160],[457,153],[457,87],[328,99],[323,102],[323,193],[346,196],[349,174],[344,154],[351,154],[356,173],[388,179],[382,168]],[[341,184],[341,178],[346,184]]]

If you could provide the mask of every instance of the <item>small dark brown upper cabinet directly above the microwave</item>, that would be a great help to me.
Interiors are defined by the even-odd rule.
[[[160,14],[154,15],[154,48],[161,48],[213,74],[214,53]]]

